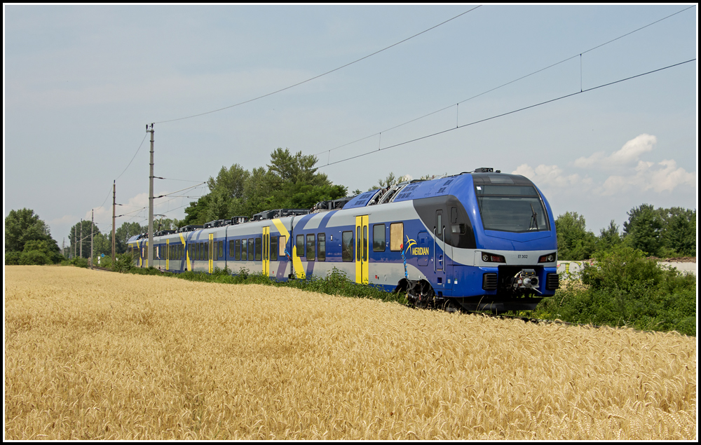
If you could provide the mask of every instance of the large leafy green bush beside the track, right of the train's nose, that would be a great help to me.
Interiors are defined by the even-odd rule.
[[[617,245],[594,254],[580,289],[569,286],[543,300],[536,317],[696,335],[696,278],[669,271],[644,252]]]

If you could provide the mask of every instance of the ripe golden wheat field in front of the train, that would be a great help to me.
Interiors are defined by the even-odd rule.
[[[6,439],[686,439],[696,339],[5,267]]]

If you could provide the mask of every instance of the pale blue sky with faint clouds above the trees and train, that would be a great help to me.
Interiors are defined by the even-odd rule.
[[[116,226],[147,224],[150,123],[170,218],[278,147],[348,191],[523,174],[597,235],[696,208],[697,7],[475,6],[4,4],[5,216],[34,210],[59,245],[92,211],[107,233],[116,181]]]

